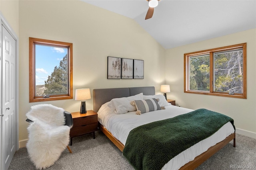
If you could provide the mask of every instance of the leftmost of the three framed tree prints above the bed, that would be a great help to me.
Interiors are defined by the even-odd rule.
[[[108,79],[121,78],[121,58],[108,57]]]

